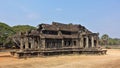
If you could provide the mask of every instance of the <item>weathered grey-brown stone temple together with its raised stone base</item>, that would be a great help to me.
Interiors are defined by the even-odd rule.
[[[20,33],[20,51],[17,54],[36,55],[41,53],[64,53],[101,51],[99,48],[99,33],[93,33],[82,25],[39,24],[36,30]],[[26,52],[25,52],[26,51]],[[67,53],[68,53],[67,52]]]

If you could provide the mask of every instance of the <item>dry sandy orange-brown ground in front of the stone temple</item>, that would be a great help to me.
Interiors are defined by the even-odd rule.
[[[62,55],[17,59],[0,52],[0,68],[120,68],[120,49],[107,55]]]

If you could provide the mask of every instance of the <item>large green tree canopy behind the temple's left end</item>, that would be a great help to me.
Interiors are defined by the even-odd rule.
[[[32,29],[36,29],[36,27],[30,25],[16,25],[11,27],[3,22],[0,22],[0,44],[11,43],[11,40],[9,39],[11,36],[18,32],[26,32]]]

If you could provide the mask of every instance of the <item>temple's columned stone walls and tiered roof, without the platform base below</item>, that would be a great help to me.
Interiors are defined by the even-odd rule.
[[[37,30],[21,35],[21,49],[93,48],[98,46],[98,33],[73,24],[40,24]]]

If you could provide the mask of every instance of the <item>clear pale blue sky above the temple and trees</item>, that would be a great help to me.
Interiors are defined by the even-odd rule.
[[[10,26],[81,24],[120,38],[120,0],[0,0],[0,21]]]

